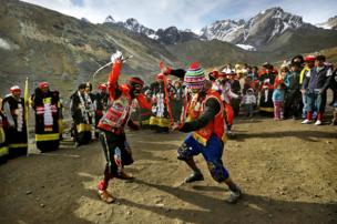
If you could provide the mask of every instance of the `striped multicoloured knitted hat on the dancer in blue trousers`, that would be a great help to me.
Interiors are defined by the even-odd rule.
[[[198,62],[193,62],[185,73],[184,82],[190,89],[200,90],[205,82],[204,69],[200,67]]]

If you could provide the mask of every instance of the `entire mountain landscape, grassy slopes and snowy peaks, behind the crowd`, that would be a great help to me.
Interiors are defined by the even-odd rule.
[[[121,22],[110,16],[103,23],[93,24],[85,18],[78,20],[30,3],[0,0],[0,94],[12,84],[22,85],[29,77],[32,88],[45,80],[69,95],[79,83],[90,81],[116,49],[134,55],[123,74],[152,81],[160,61],[173,68],[186,68],[195,60],[207,68],[225,62],[261,64],[333,47],[337,47],[336,30],[303,23],[300,17],[279,8],[247,22],[217,21],[197,35],[176,27],[154,31],[132,18]],[[103,70],[99,81],[105,80],[108,72]]]

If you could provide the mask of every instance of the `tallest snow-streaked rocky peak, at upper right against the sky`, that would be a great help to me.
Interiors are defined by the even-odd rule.
[[[303,24],[302,17],[285,12],[280,8],[272,8],[259,12],[247,22],[244,20],[216,21],[203,28],[201,37],[258,48],[285,31],[297,29]]]

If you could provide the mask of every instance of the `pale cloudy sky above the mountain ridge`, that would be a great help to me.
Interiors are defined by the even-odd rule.
[[[198,31],[215,20],[249,19],[259,11],[282,7],[319,23],[337,16],[336,0],[24,0],[75,18],[101,23],[111,14],[118,21],[135,18],[152,29],[175,26]]]

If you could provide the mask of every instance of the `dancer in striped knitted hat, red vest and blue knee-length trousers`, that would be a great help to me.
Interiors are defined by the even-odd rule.
[[[171,71],[174,74],[175,71]],[[202,154],[207,162],[212,177],[218,183],[226,183],[231,195],[228,203],[236,203],[242,191],[232,181],[225,169],[222,155],[226,141],[224,132],[224,106],[218,92],[212,90],[212,83],[205,79],[204,70],[198,63],[192,63],[184,74],[184,84],[191,94],[185,104],[181,124],[173,130],[190,132],[177,150],[177,159],[185,161],[193,170],[185,179],[186,183],[203,181],[204,176],[194,162],[194,156]]]

